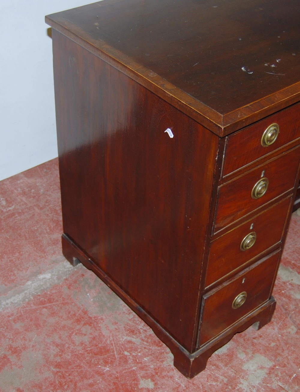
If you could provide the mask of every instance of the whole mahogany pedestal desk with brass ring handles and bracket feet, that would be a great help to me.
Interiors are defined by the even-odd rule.
[[[186,377],[271,320],[299,183],[300,2],[105,0],[53,27],[63,254]]]

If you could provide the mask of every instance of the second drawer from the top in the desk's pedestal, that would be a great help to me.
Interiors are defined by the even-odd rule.
[[[260,167],[219,186],[215,232],[268,203],[295,185],[299,165],[300,148],[282,153]],[[252,197],[255,184],[262,178],[269,183],[266,193],[259,198]]]

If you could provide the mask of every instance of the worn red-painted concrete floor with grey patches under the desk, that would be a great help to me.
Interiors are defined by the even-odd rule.
[[[61,255],[58,162],[0,182],[0,391],[300,391],[300,216],[271,323],[249,328],[192,380],[108,287]]]

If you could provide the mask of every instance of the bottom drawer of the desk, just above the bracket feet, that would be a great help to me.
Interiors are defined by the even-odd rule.
[[[279,255],[273,253],[203,296],[200,346],[269,299]]]

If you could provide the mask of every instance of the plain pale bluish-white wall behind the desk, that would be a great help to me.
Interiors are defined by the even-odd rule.
[[[52,40],[44,16],[89,0],[0,6],[0,180],[57,156]]]

